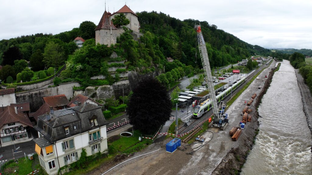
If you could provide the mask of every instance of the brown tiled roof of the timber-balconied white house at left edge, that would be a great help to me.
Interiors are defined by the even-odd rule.
[[[0,128],[5,124],[13,122],[21,122],[25,125],[32,127],[32,122],[29,120],[26,114],[19,111],[17,111],[16,114],[13,107],[7,106],[4,108],[4,111],[0,114]]]

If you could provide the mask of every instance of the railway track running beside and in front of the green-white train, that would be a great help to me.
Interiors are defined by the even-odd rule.
[[[235,89],[234,91],[232,91],[233,94],[237,93],[239,90],[241,90],[242,87],[244,87],[246,85],[246,83],[248,83],[251,78],[258,73],[261,69],[263,69],[265,66],[263,65],[262,67],[260,67],[259,69],[257,69],[255,72],[251,73],[248,75],[248,77],[246,78],[246,81],[244,83],[241,84],[241,86],[239,86],[237,89]],[[231,99],[231,96],[227,96],[223,99],[224,102],[227,102],[228,100]],[[180,128],[178,128],[178,135],[182,135],[190,130],[192,130],[196,125],[198,125],[200,122],[204,121],[205,119],[207,119],[208,117],[212,116],[212,110],[208,111],[204,116],[200,117],[200,118],[192,118],[191,123],[189,125],[186,125],[186,123],[181,126]]]

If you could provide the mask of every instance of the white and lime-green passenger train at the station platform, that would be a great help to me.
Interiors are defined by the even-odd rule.
[[[217,102],[219,103],[220,101],[222,101],[225,97],[231,94],[231,91],[237,89],[237,87],[239,87],[245,81],[246,81],[246,77],[236,80],[236,82],[234,82],[232,86],[228,87],[225,91],[221,92],[220,94],[216,96]],[[211,108],[212,108],[211,101],[209,99],[205,100],[204,102],[194,107],[193,118],[201,117],[203,114],[208,112]]]

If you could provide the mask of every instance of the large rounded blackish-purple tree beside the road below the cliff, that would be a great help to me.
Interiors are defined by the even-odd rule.
[[[127,107],[130,124],[144,134],[154,134],[169,120],[170,97],[158,80],[144,79],[134,89]]]

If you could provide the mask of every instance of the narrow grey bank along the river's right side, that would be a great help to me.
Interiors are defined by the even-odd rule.
[[[309,87],[305,84],[303,77],[299,73],[299,69],[295,69],[298,86],[300,89],[301,100],[303,103],[303,112],[308,122],[308,127],[312,134],[312,96]],[[311,147],[312,152],[312,147]]]

